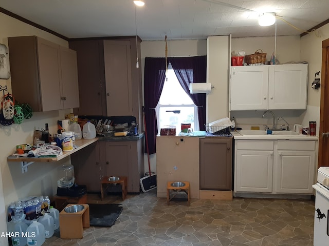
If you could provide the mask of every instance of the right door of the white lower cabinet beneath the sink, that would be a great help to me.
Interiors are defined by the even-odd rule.
[[[276,161],[277,193],[313,194],[314,151],[280,151]]]

